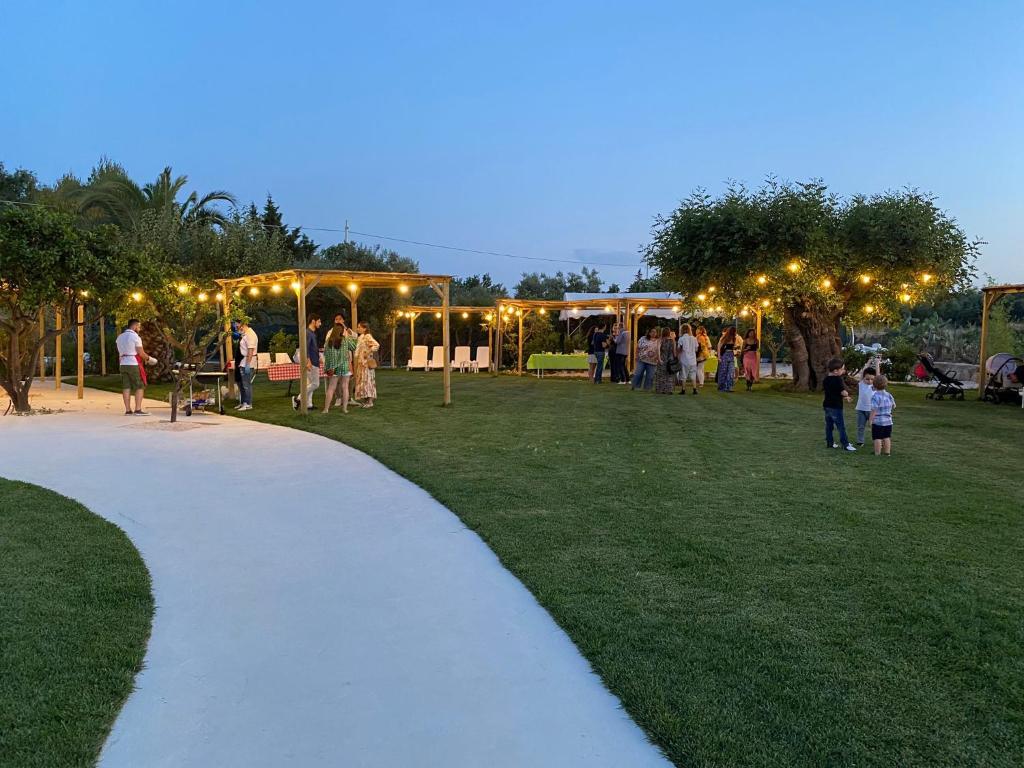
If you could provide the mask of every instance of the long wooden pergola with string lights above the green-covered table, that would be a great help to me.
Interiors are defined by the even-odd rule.
[[[707,305],[706,305],[707,303]],[[572,312],[593,312],[599,311],[603,314],[611,315],[618,324],[625,324],[630,332],[630,355],[628,365],[633,368],[636,365],[636,354],[639,340],[636,330],[640,321],[650,309],[669,309],[677,316],[720,316],[723,313],[721,307],[714,305],[713,301],[699,302],[696,306],[685,304],[682,299],[643,299],[643,298],[623,298],[608,296],[603,299],[595,298],[586,301],[554,301],[541,299],[500,299],[496,311],[498,312],[498,339],[502,338],[502,325],[516,318],[519,323],[519,355],[516,364],[516,373],[522,375],[522,321],[530,312],[547,314],[551,311]],[[753,314],[755,318],[758,339],[761,338],[762,310],[760,307],[751,307],[740,310],[740,315],[744,313]],[[496,373],[499,370],[499,355],[495,355],[492,360],[492,370]]]

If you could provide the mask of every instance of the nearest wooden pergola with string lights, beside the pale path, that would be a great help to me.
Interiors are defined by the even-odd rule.
[[[452,308],[450,305],[451,275],[419,274],[416,272],[360,272],[345,269],[284,269],[278,272],[263,272],[262,274],[249,274],[244,278],[223,279],[216,281],[216,283],[223,292],[224,329],[227,332],[224,339],[224,348],[227,359],[231,359],[231,334],[228,310],[230,308],[231,296],[236,291],[248,291],[250,295],[258,296],[264,289],[268,289],[271,294],[282,294],[288,288],[298,297],[296,316],[299,323],[299,370],[301,372],[299,376],[299,408],[303,414],[307,412],[306,396],[308,394],[305,377],[308,358],[306,356],[303,330],[307,326],[306,297],[309,296],[309,292],[314,288],[337,288],[341,291],[351,303],[351,324],[354,327],[358,322],[358,298],[362,291],[382,288],[397,291],[400,295],[408,296],[414,288],[429,286],[441,300],[438,311],[441,313],[441,340],[444,346],[443,403],[445,406],[451,404],[452,362],[449,355],[451,346],[450,316]]]

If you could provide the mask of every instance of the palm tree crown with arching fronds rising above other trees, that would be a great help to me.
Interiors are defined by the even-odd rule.
[[[188,226],[220,226],[227,217],[215,203],[237,205],[234,197],[217,189],[202,198],[193,191],[178,202],[187,176],[173,176],[167,166],[152,181],[139,186],[117,163],[100,161],[88,183],[78,191],[79,211],[93,220],[117,224],[124,231],[135,231],[142,217],[150,213],[171,214]]]

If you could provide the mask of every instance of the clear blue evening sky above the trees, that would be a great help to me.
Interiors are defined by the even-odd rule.
[[[916,186],[1024,283],[1024,3],[0,0],[0,160],[628,283],[697,186]],[[340,236],[310,232],[317,242]],[[372,239],[364,239],[371,240]],[[386,243],[385,243],[386,244]],[[395,246],[514,284],[548,263]],[[625,266],[601,266],[601,264]]]

